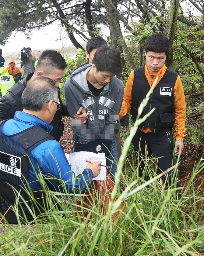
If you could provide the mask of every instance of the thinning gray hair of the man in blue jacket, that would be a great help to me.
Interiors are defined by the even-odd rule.
[[[23,108],[30,111],[41,111],[47,102],[57,99],[58,89],[55,82],[45,76],[33,79],[22,94]]]

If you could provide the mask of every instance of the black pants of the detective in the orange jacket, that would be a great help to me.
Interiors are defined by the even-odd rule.
[[[145,168],[146,159],[149,159],[151,154],[157,157],[157,166],[159,167],[159,172],[165,171],[172,166],[173,158],[173,134],[171,131],[164,132],[148,132],[144,133],[141,130],[137,130],[135,136],[132,139],[132,143],[135,149],[136,158],[139,160],[139,177],[143,176],[143,170]],[[139,153],[138,153],[139,152]],[[148,167],[146,168],[148,170]],[[164,181],[167,177],[166,185],[172,185],[177,182],[177,177],[173,177],[173,170],[169,171],[168,174],[164,175],[162,178]],[[145,180],[149,180],[148,171],[144,176]]]

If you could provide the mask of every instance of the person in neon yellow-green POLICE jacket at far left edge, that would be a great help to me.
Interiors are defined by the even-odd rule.
[[[7,93],[7,90],[9,90],[15,84],[15,82],[13,76],[9,74],[6,67],[0,68],[0,74],[1,94],[4,96],[4,94]]]

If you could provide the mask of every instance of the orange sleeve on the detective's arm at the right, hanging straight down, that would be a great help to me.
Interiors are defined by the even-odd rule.
[[[176,137],[176,140],[183,140],[185,137],[186,102],[179,75],[174,86],[174,107],[176,113],[174,137]]]

